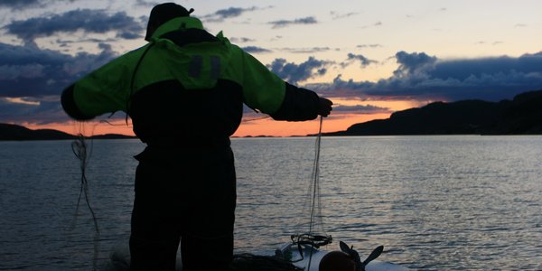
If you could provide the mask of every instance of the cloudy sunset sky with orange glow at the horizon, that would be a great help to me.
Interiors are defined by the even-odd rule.
[[[324,132],[434,101],[498,101],[542,89],[539,0],[175,3],[282,79],[332,99]],[[61,91],[145,45],[156,4],[0,0],[0,123],[78,132],[61,109]],[[86,126],[95,135],[132,134],[123,112]],[[317,121],[277,122],[246,110],[235,135],[317,131]]]

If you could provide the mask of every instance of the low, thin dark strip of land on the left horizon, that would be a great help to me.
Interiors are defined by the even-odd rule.
[[[70,135],[61,131],[52,129],[32,130],[24,126],[0,123],[0,140],[64,140],[75,139],[76,135]],[[93,139],[120,139],[120,138],[135,138],[129,135],[93,135]]]

